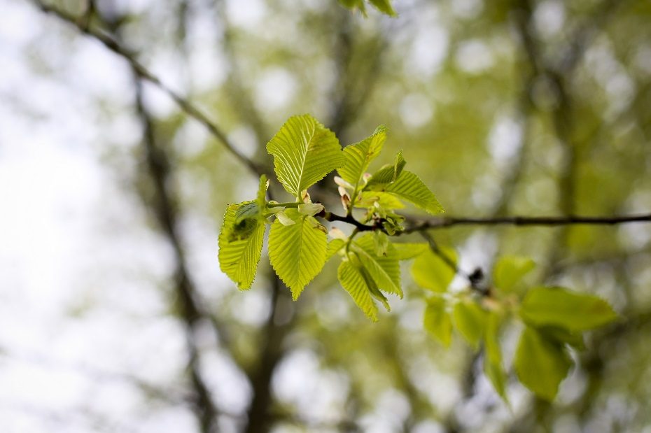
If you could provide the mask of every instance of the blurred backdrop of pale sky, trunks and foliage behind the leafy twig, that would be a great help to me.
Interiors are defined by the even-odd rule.
[[[292,303],[263,254],[238,292],[217,234],[257,177],[85,35],[260,166],[312,113],[343,144],[387,125],[385,162],[402,149],[450,215],[651,209],[649,1],[393,4],[0,0],[1,432],[651,432],[649,225],[435,232],[463,269],[533,257],[530,283],[625,318],[554,404],[512,380],[508,407],[481,353],[423,331],[407,268],[375,324],[334,264]]]

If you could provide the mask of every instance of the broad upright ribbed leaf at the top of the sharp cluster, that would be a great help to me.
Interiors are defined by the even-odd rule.
[[[274,155],[274,169],[285,189],[300,198],[301,192],[344,164],[335,134],[309,114],[296,115],[267,143]]]

